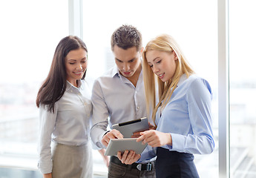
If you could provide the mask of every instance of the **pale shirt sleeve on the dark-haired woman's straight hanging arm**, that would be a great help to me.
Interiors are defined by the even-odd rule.
[[[51,160],[50,142],[56,123],[56,115],[58,111],[57,104],[54,106],[54,113],[47,111],[44,105],[39,108],[39,170],[42,174],[49,174],[53,170],[53,162]],[[49,174],[50,175],[50,174]],[[49,176],[47,175],[47,176]]]

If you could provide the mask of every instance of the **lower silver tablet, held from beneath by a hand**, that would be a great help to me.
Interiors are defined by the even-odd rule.
[[[129,139],[111,139],[105,151],[105,156],[116,156],[118,151],[123,153],[125,150],[135,151],[141,154],[148,144],[143,145],[142,142],[136,142],[137,138]]]

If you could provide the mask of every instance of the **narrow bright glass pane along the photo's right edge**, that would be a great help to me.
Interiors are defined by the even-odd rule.
[[[256,177],[256,1],[229,1],[230,174]]]

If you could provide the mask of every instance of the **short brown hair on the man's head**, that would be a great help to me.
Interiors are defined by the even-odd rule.
[[[136,27],[123,24],[117,28],[111,36],[111,50],[114,51],[114,46],[121,47],[127,50],[130,47],[136,47],[137,51],[142,48],[142,35]]]

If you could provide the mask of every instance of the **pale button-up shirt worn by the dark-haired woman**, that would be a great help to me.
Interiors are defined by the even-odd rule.
[[[64,145],[85,145],[89,141],[92,113],[91,89],[85,80],[78,88],[67,81],[64,95],[54,105],[54,113],[39,107],[39,170],[52,171],[51,141]]]

